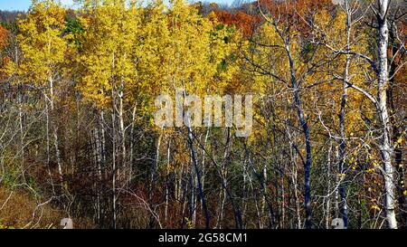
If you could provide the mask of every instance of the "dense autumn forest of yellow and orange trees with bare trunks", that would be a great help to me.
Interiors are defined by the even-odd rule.
[[[0,229],[407,228],[405,1],[75,3],[0,12]]]

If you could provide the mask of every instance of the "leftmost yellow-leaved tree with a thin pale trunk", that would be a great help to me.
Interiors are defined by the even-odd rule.
[[[55,157],[58,173],[62,179],[62,160],[59,147],[58,127],[55,116],[58,80],[63,73],[64,56],[70,49],[62,35],[65,27],[65,10],[53,1],[34,1],[26,19],[18,23],[17,36],[23,58],[9,62],[7,70],[18,78],[16,83],[24,83],[43,90],[47,108],[47,131],[52,125]],[[48,110],[48,106],[50,109]],[[47,139],[49,139],[47,135]]]

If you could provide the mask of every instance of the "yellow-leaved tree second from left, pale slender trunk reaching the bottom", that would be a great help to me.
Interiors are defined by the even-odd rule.
[[[137,26],[139,23],[136,3],[126,1],[85,1],[82,19],[84,29],[80,62],[83,77],[80,91],[99,109],[109,109],[112,128],[112,212],[116,228],[116,183],[120,170],[127,168],[125,104],[129,91],[137,90],[136,81]],[[118,123],[117,120],[118,119]],[[119,138],[117,139],[117,125]],[[118,156],[120,148],[120,156]]]

